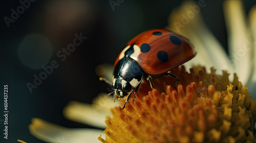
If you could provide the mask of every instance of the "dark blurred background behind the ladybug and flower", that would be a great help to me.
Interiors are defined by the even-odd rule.
[[[205,2],[207,7],[200,12],[227,51],[222,1]],[[1,116],[0,142],[16,142],[16,139],[42,142],[29,133],[32,117],[69,128],[93,128],[67,120],[62,115],[63,107],[71,100],[91,103],[99,92],[109,92],[108,86],[98,80],[95,67],[114,63],[125,43],[138,33],[164,28],[169,13],[180,4],[181,1],[124,0],[113,11],[109,1],[35,1],[7,24],[4,17],[11,18],[11,9],[17,11],[22,4],[1,1],[0,82],[9,89],[9,139],[3,139]],[[244,2],[247,13],[252,4],[255,2]],[[75,34],[80,33],[87,39],[61,61],[63,57],[57,57],[57,53],[73,43]],[[53,60],[59,66],[31,93],[27,83],[34,84],[34,75],[39,76],[44,71],[41,67],[50,66]],[[4,87],[2,93],[3,90]],[[3,105],[4,99],[1,100]]]

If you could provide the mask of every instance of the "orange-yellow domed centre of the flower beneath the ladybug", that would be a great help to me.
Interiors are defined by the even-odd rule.
[[[256,102],[234,74],[216,75],[211,68],[184,66],[169,77],[144,82],[123,110],[106,117],[101,142],[254,142]],[[134,97],[134,94],[131,95]],[[119,100],[119,99],[118,99]],[[121,99],[124,104],[124,99]]]

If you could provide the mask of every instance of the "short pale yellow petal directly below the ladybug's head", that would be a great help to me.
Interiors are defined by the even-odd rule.
[[[113,103],[111,97],[104,100],[105,96],[106,93],[100,93],[93,104],[72,101],[63,109],[63,115],[72,121],[105,128],[106,116],[111,115],[110,108],[120,106],[120,102]]]

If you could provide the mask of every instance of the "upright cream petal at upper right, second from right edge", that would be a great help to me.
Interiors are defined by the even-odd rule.
[[[250,78],[252,50],[246,48],[250,35],[245,23],[243,2],[224,1],[223,9],[228,32],[229,55],[239,81],[245,84]]]

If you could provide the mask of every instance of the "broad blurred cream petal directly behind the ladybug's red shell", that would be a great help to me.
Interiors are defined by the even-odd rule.
[[[197,51],[196,57],[185,63],[185,65],[191,67],[193,64],[201,64],[205,66],[206,69],[214,66],[218,69],[217,74],[220,74],[221,70],[227,70],[231,73],[233,68],[230,66],[227,54],[223,50],[222,45],[207,29],[200,12],[193,12],[191,9],[191,6],[196,5],[197,4],[194,2],[186,1],[182,5],[180,11],[175,10],[175,14],[172,14],[171,16],[174,17],[174,19],[171,20],[171,23],[174,23],[172,30],[185,35],[190,39]],[[188,18],[188,14],[191,12],[194,13],[194,16]],[[184,23],[185,17],[188,19],[188,22],[186,23]],[[178,23],[180,23],[182,27],[177,27]]]

